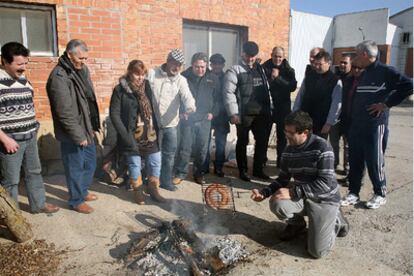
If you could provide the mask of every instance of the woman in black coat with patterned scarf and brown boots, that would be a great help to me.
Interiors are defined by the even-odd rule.
[[[158,190],[161,152],[152,92],[145,80],[146,74],[147,69],[142,61],[131,61],[126,74],[114,88],[110,103],[111,120],[118,132],[118,148],[126,156],[129,184],[134,189],[138,204],[144,204],[145,201],[141,175],[143,159],[148,183],[146,191],[155,201],[165,201]]]

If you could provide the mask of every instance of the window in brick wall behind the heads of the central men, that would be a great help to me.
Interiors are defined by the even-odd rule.
[[[183,29],[186,66],[190,66],[191,57],[197,52],[208,56],[222,54],[226,59],[225,69],[239,62],[240,45],[245,34],[243,28],[184,22]]]

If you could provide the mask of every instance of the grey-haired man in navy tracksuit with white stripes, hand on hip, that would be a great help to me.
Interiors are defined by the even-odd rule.
[[[374,41],[356,46],[356,66],[365,69],[351,104],[349,129],[349,193],[342,206],[359,201],[365,164],[374,186],[374,196],[366,207],[377,209],[386,203],[384,152],[388,138],[389,108],[413,93],[412,80],[378,60]]]

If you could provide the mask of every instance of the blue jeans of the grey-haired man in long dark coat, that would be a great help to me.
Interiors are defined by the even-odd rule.
[[[69,206],[76,207],[85,201],[96,168],[95,144],[79,146],[61,142],[62,161],[66,185],[69,190]]]

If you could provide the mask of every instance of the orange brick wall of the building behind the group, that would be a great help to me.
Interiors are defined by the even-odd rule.
[[[288,0],[26,0],[24,4],[56,7],[58,53],[73,38],[90,49],[91,69],[101,115],[107,111],[112,89],[128,62],[141,59],[148,67],[162,64],[172,48],[182,48],[183,19],[246,27],[248,39],[259,44],[260,57],[271,49],[288,49]],[[42,162],[59,159],[45,85],[58,57],[31,57],[28,78],[35,89]],[[51,150],[52,149],[52,150]],[[53,152],[52,152],[53,151]],[[46,161],[45,161],[46,160]],[[51,167],[50,165],[49,167]],[[47,169],[47,168],[46,168]]]

